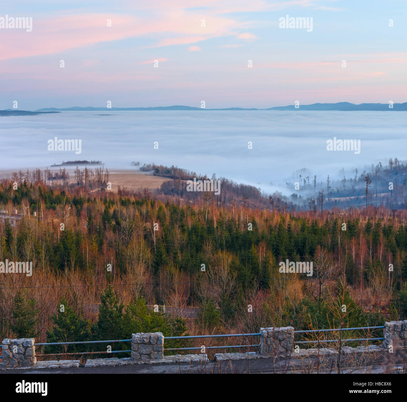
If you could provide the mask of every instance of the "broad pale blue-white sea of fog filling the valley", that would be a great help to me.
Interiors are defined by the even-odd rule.
[[[354,176],[390,157],[407,159],[407,112],[109,111],[0,117],[1,170],[101,160],[174,165],[284,192],[285,181]],[[49,151],[48,140],[81,139],[82,152]],[[360,139],[359,154],[328,151],[327,140]],[[158,141],[158,149],[154,142]],[[252,149],[248,143],[252,142]],[[302,172],[300,169],[306,168]],[[294,174],[293,174],[294,173]]]

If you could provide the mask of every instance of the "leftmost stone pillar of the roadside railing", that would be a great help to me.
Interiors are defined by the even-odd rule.
[[[34,338],[3,339],[3,367],[29,367],[37,362]]]

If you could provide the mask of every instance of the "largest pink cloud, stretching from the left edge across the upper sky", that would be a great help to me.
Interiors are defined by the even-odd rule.
[[[93,46],[125,38],[158,36],[158,42],[145,48],[190,44],[209,38],[233,35],[238,23],[210,15],[201,26],[201,14],[169,11],[139,18],[131,15],[81,14],[55,18],[33,18],[33,31],[7,30],[0,42],[0,60],[61,54],[69,49]],[[112,26],[107,26],[112,20]],[[161,37],[164,37],[160,39]]]

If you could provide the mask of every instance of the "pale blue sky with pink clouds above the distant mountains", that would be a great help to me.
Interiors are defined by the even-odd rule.
[[[402,103],[406,17],[406,0],[3,1],[0,109]]]

